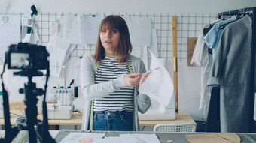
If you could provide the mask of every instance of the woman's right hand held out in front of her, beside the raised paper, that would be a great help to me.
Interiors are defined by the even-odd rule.
[[[126,85],[130,87],[135,87],[137,84],[139,84],[140,79],[142,78],[142,73],[132,73],[132,74],[126,74],[123,79]]]

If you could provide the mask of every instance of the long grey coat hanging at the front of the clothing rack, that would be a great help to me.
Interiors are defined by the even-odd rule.
[[[246,15],[227,25],[212,62],[207,84],[221,86],[221,132],[251,131],[251,23]]]

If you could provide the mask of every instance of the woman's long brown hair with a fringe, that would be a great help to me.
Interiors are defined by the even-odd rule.
[[[105,17],[99,25],[98,39],[96,43],[95,59],[96,61],[102,61],[105,58],[105,49],[102,46],[99,34],[102,28],[117,29],[120,32],[120,41],[118,46],[118,62],[123,63],[126,60],[126,56],[132,52],[132,44],[130,42],[130,34],[126,22],[121,16],[110,15]]]

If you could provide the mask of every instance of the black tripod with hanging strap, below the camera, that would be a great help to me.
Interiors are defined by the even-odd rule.
[[[5,65],[4,65],[5,70]],[[4,73],[3,70],[3,73]],[[2,74],[3,74],[2,73]],[[1,74],[1,77],[2,77]],[[0,142],[11,142],[20,130],[28,130],[29,131],[29,142],[55,142],[54,139],[50,136],[48,131],[48,121],[47,121],[47,105],[45,101],[45,93],[47,88],[47,82],[44,85],[45,90],[41,88],[36,88],[34,82],[32,82],[33,76],[44,76],[43,73],[35,70],[35,69],[23,69],[20,72],[14,73],[14,75],[27,76],[29,81],[25,84],[25,88],[20,88],[20,94],[25,94],[25,113],[26,120],[24,123],[18,123],[11,127],[10,123],[10,112],[9,112],[9,101],[8,94],[5,91],[4,83],[2,82],[3,88],[3,106],[4,106],[4,115],[5,115],[5,137],[0,139]],[[50,70],[47,69],[47,80],[50,75]],[[43,121],[37,119],[38,109],[37,109],[37,96],[44,94],[43,101]]]

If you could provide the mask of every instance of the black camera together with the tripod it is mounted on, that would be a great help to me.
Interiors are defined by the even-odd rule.
[[[6,64],[8,64],[8,69],[20,69],[19,72],[14,73],[14,76],[28,77],[28,82],[24,84],[25,87],[20,88],[20,94],[25,94],[23,101],[26,105],[26,120],[24,120],[25,123],[19,123],[11,127],[8,94],[5,91],[4,82],[2,80],[5,138],[0,139],[0,142],[11,142],[20,130],[29,131],[29,142],[37,142],[37,140],[40,142],[55,142],[48,131],[47,106],[45,101],[47,81],[50,76],[49,61],[47,60],[48,56],[49,53],[45,46],[36,46],[29,43],[18,43],[17,45],[9,46],[9,50],[5,54],[5,64],[1,78],[5,72]],[[39,70],[47,70],[46,75]],[[36,88],[35,83],[32,82],[33,76],[46,76],[44,90]],[[37,119],[38,109],[36,104],[38,102],[38,95],[44,95],[43,121]]]

